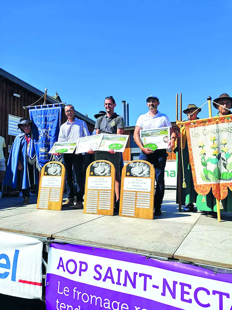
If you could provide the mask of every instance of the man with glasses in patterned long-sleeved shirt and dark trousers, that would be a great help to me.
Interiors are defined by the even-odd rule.
[[[89,130],[84,120],[79,120],[75,117],[74,106],[68,104],[65,106],[65,114],[68,120],[61,125],[58,137],[59,142],[77,141],[78,138],[89,136]],[[60,153],[55,153],[60,155]],[[68,190],[68,199],[63,206],[74,206],[76,209],[83,209],[83,195],[84,195],[84,176],[83,176],[83,155],[82,154],[63,154],[63,162],[66,168],[66,186]],[[73,166],[76,175],[76,182],[80,188],[77,193],[77,202],[74,205],[74,186],[73,186]]]

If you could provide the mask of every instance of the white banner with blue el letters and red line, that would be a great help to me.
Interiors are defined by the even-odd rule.
[[[0,293],[42,297],[43,243],[36,238],[0,232]]]

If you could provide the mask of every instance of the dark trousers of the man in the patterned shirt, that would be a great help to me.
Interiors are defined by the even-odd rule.
[[[77,201],[83,201],[84,195],[84,178],[83,178],[83,155],[79,154],[64,154],[64,165],[66,169],[65,183],[68,190],[68,200],[74,201],[74,184],[73,184],[73,167],[76,175],[76,182],[80,188],[77,192]]]

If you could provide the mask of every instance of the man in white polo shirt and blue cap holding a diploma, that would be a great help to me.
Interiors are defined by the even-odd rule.
[[[168,143],[168,148],[175,147],[176,134],[169,118],[166,114],[160,113],[157,110],[160,104],[158,97],[152,95],[147,98],[148,113],[140,115],[134,129],[134,141],[141,149],[139,159],[150,162],[155,168],[156,192],[154,200],[154,215],[161,215],[161,204],[164,197],[164,170],[167,160],[166,149],[151,149],[144,148],[140,140],[141,129],[155,129],[160,127],[170,127],[171,140]]]

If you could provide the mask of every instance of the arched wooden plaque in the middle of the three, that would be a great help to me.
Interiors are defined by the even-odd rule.
[[[107,160],[92,162],[86,171],[84,213],[114,215],[115,167]]]

